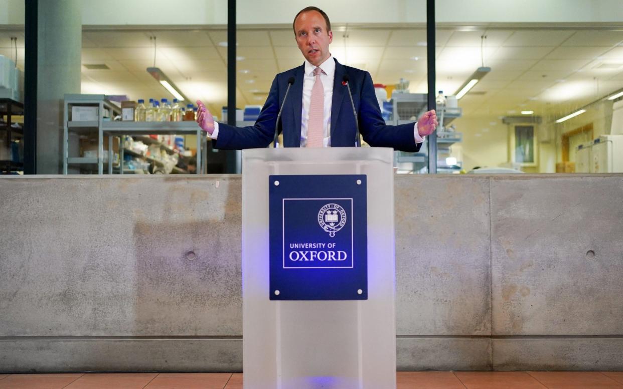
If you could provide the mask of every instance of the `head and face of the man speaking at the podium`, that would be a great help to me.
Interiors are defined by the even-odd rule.
[[[318,11],[303,12],[294,22],[298,49],[312,65],[318,66],[329,58],[333,32],[326,29],[325,18]]]

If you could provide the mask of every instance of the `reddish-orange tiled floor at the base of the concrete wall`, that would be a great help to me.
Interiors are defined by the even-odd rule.
[[[623,389],[623,372],[398,372],[398,389]],[[242,389],[242,373],[0,374],[0,389]]]

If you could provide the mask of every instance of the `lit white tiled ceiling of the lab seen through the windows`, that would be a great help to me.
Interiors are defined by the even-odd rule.
[[[412,92],[426,92],[426,29],[333,27],[330,50],[340,62],[368,70],[375,83],[393,85],[406,78]],[[14,35],[23,67],[23,32],[0,32],[0,54],[14,58],[9,39]],[[237,35],[237,105],[262,105],[275,73],[300,65],[303,57],[290,26],[238,30]],[[156,36],[155,65],[193,102],[206,101],[220,116],[227,101],[226,30],[85,30],[82,63],[105,63],[110,70],[82,67],[82,92],[172,98],[146,72],[154,65],[151,36]],[[445,94],[455,93],[481,65],[492,68],[472,89],[485,93],[460,100],[465,116],[520,110],[556,116],[623,88],[622,29],[444,27],[436,39],[437,89]]]

